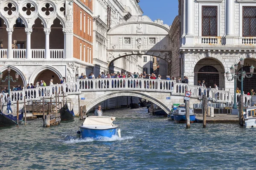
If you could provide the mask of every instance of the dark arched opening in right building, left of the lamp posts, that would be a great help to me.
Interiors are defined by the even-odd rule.
[[[214,84],[219,86],[218,70],[211,65],[200,68],[198,71],[198,80],[202,81],[203,79],[207,88],[209,88],[209,86],[214,88]]]

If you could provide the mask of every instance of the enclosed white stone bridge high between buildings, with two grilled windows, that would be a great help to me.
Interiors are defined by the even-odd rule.
[[[132,16],[120,20],[108,31],[108,68],[116,59],[131,55],[150,55],[171,62],[170,27],[161,20]]]

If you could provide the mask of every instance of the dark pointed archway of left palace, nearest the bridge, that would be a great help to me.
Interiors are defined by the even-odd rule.
[[[37,75],[37,77],[35,78],[34,84],[36,84],[37,81],[40,82],[41,80],[44,80],[44,82],[46,82],[46,85],[48,86],[50,79],[53,80],[53,84],[60,83],[60,80],[59,80],[60,78],[58,77],[58,75],[54,71],[46,69],[44,71],[41,71]]]

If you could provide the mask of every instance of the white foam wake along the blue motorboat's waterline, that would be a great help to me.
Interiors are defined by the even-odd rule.
[[[64,141],[64,143],[81,143],[81,142],[93,142],[93,141],[112,142],[112,141],[130,140],[130,139],[133,139],[133,138],[134,137],[132,137],[132,136],[119,138],[118,136],[114,135],[111,138],[108,138],[108,137],[99,137],[97,139],[95,139],[95,138],[83,138],[83,139],[73,138],[73,139],[69,139],[68,141]]]

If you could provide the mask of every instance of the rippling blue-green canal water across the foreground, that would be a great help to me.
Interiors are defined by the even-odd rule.
[[[0,169],[256,169],[256,129],[174,124],[146,109],[105,111],[122,137],[76,139],[79,119],[50,128],[42,119],[0,128]]]

